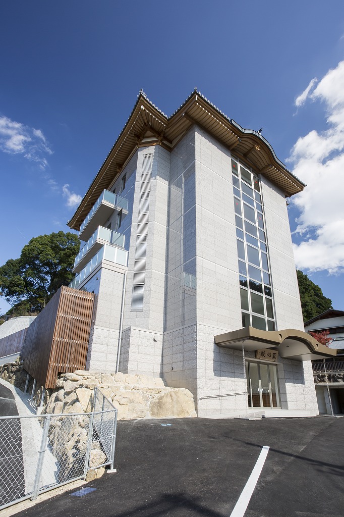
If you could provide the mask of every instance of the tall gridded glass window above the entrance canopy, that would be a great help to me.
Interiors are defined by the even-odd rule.
[[[269,252],[259,177],[232,158],[242,326],[275,330]]]

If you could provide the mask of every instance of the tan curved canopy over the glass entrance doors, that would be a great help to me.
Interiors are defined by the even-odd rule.
[[[306,332],[296,329],[267,331],[246,327],[214,336],[215,343],[224,348],[246,351],[271,348],[277,350],[283,359],[310,361],[334,357],[337,351],[327,348]]]

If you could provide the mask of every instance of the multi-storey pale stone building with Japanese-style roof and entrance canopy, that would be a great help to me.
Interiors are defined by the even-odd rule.
[[[199,416],[315,415],[286,197],[304,184],[198,92],[143,93],[68,225],[96,294],[87,368],[161,376]],[[270,413],[269,413],[270,412]]]

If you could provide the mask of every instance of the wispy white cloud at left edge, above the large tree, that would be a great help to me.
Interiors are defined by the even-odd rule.
[[[4,115],[0,116],[0,149],[11,155],[21,154],[37,162],[41,169],[48,165],[46,155],[53,153],[40,129],[24,126]]]

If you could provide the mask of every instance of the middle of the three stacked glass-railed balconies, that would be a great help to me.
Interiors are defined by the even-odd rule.
[[[108,228],[98,226],[97,230],[88,239],[75,257],[73,273],[80,273],[83,267],[89,262],[104,244],[111,244],[124,248],[124,235],[112,232]]]

